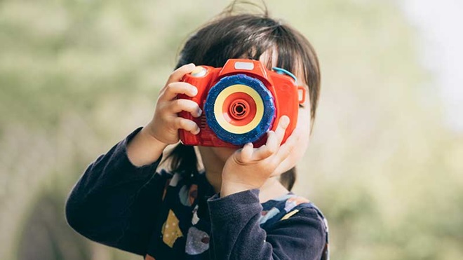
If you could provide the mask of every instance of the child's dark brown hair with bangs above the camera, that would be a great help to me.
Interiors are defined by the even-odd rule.
[[[311,126],[313,126],[320,90],[320,70],[314,48],[307,39],[292,27],[269,18],[267,8],[261,14],[234,14],[235,2],[223,13],[201,27],[184,44],[177,68],[184,64],[223,67],[231,58],[259,60],[262,53],[276,52],[276,67],[288,71],[301,71],[309,86]],[[271,69],[272,55],[267,60]],[[309,135],[309,133],[307,133]],[[184,178],[198,174],[198,160],[193,146],[177,144],[166,159],[170,159],[173,172]],[[283,173],[280,182],[293,189],[295,167]]]

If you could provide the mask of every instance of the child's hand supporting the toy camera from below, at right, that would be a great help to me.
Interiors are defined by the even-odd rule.
[[[282,116],[275,132],[267,133],[266,144],[255,149],[252,143],[248,143],[227,159],[222,171],[220,196],[260,189],[297,143],[297,138],[291,135],[281,145],[288,124],[288,116]]]

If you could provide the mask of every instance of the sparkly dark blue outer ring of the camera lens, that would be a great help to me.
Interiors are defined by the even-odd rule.
[[[222,128],[217,122],[214,112],[215,100],[217,100],[218,95],[225,88],[236,84],[247,85],[248,87],[253,88],[253,90],[260,95],[260,98],[264,103],[264,114],[261,121],[255,128],[243,134],[235,134],[224,130],[224,128]],[[257,78],[252,78],[245,74],[235,74],[232,76],[225,76],[220,79],[219,82],[210,88],[208,97],[206,97],[206,103],[204,104],[204,113],[206,115],[206,122],[208,123],[209,128],[213,130],[215,135],[224,142],[229,142],[238,146],[242,146],[248,142],[256,142],[262,137],[262,135],[265,135],[271,128],[271,124],[274,121],[275,111],[274,97],[265,87],[264,83],[259,81]]]

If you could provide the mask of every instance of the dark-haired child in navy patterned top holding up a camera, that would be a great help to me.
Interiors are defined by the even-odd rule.
[[[196,87],[180,82],[194,64],[222,67],[229,58],[260,60],[293,71],[307,85],[297,126],[281,144],[289,123],[282,116],[267,143],[242,149],[177,144],[159,170],[163,150],[178,130],[198,134],[180,118],[202,111],[190,100]],[[180,53],[177,69],[161,89],[154,116],[92,163],[72,190],[69,224],[91,240],[145,259],[328,259],[328,227],[309,200],[290,193],[314,121],[320,74],[316,54],[299,32],[263,15],[231,15],[199,29]],[[156,172],[156,173],[155,173]],[[280,180],[280,182],[279,182]]]

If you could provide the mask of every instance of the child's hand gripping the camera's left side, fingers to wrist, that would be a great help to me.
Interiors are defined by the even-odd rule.
[[[175,144],[179,140],[178,130],[184,129],[194,135],[199,133],[199,126],[194,121],[177,116],[180,111],[188,111],[194,117],[201,116],[201,109],[192,100],[177,100],[177,94],[194,97],[198,89],[189,83],[179,82],[185,74],[193,71],[194,64],[186,64],[170,74],[164,88],[159,93],[152,121],[145,130],[152,137],[164,144]]]

